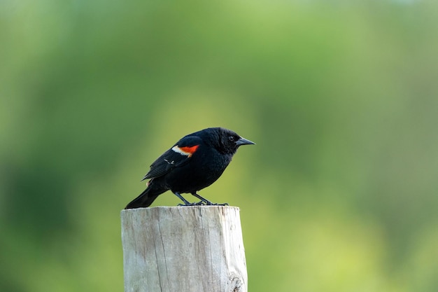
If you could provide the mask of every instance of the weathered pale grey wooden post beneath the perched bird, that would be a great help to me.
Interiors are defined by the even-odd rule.
[[[246,292],[239,208],[122,210],[125,292]]]

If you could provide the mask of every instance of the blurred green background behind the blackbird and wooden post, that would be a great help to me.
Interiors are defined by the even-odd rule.
[[[120,210],[215,126],[250,291],[438,291],[436,1],[3,0],[0,58],[0,291],[122,291]]]

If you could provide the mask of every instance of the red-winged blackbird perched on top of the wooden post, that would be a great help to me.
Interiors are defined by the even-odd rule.
[[[150,179],[148,187],[125,209],[148,207],[167,190],[183,200],[185,206],[213,204],[197,191],[219,179],[237,148],[246,144],[255,143],[222,127],[188,134],[150,165],[149,172],[142,179]],[[191,193],[201,202],[192,204],[181,193]]]

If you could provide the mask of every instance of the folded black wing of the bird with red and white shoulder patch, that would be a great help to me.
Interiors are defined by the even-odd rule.
[[[174,169],[185,165],[192,155],[202,144],[202,139],[195,136],[186,136],[176,143],[168,151],[164,152],[157,160],[150,165],[149,172],[143,177],[144,179],[153,179],[163,176]]]

